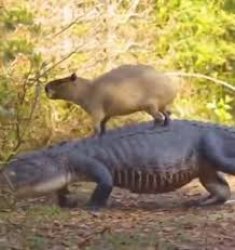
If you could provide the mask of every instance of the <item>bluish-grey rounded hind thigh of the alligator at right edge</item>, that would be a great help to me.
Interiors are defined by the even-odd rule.
[[[227,174],[235,175],[235,136],[209,132],[203,136],[199,145],[200,153],[216,168]]]

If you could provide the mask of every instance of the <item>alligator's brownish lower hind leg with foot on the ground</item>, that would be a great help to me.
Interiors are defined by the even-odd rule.
[[[229,185],[224,177],[211,168],[203,171],[199,177],[201,184],[210,193],[208,197],[204,197],[198,203],[201,206],[221,204],[226,202],[231,195]]]

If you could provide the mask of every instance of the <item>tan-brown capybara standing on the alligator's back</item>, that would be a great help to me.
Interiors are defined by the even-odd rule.
[[[122,65],[94,80],[72,74],[51,81],[45,91],[51,99],[80,105],[92,116],[96,133],[102,134],[111,117],[137,111],[146,111],[155,122],[164,115],[167,125],[167,108],[177,95],[179,82],[151,66]]]

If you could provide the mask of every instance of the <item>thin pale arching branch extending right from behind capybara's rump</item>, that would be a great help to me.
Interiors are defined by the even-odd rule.
[[[186,77],[195,77],[195,78],[202,78],[202,79],[207,79],[207,80],[210,80],[218,85],[222,85],[230,90],[232,90],[233,92],[235,92],[235,86],[225,82],[225,81],[222,81],[222,80],[219,80],[219,79],[216,79],[216,78],[213,78],[213,77],[210,77],[210,76],[206,76],[206,75],[203,75],[203,74],[200,74],[200,73],[185,73],[185,72],[166,72],[167,75],[172,75],[172,76],[186,76]]]

